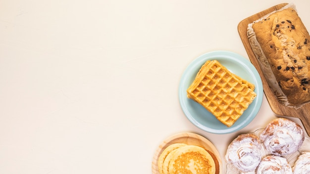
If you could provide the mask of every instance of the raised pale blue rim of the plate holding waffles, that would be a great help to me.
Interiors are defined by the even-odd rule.
[[[224,60],[225,58],[229,58],[230,61],[236,62],[236,63],[240,63],[242,64],[242,66],[245,68],[245,70],[247,72],[250,73],[251,77],[254,77],[254,84],[256,86],[255,91],[257,93],[257,97],[254,99],[254,101],[251,103],[251,105],[254,104],[253,107],[253,111],[251,111],[249,113],[249,116],[240,124],[240,125],[233,125],[232,127],[227,127],[227,129],[224,130],[216,130],[216,129],[212,129],[212,128],[208,128],[206,125],[200,124],[198,123],[192,116],[192,114],[188,111],[187,106],[186,106],[186,99],[188,99],[186,97],[186,99],[184,99],[184,91],[186,91],[186,89],[188,87],[184,87],[184,83],[186,80],[188,80],[188,76],[190,75],[196,75],[197,73],[193,73],[190,74],[191,72],[191,68],[193,67],[197,67],[197,66],[202,66],[203,63],[205,63],[207,60],[213,60],[216,59],[214,57],[221,57],[221,60]],[[189,75],[190,74],[190,75]],[[256,115],[258,114],[258,111],[260,110],[261,107],[261,103],[262,103],[262,98],[263,98],[263,88],[262,88],[262,82],[261,82],[261,78],[258,74],[257,69],[254,67],[254,65],[245,57],[243,57],[240,54],[237,54],[235,52],[231,52],[231,51],[225,51],[225,50],[217,50],[217,51],[210,51],[207,53],[204,53],[200,56],[198,56],[197,58],[195,58],[184,70],[182,76],[181,76],[181,80],[180,80],[180,84],[179,84],[179,89],[178,89],[178,96],[179,96],[179,103],[181,105],[182,111],[185,114],[185,116],[187,117],[187,119],[194,124],[196,127],[198,127],[199,129],[203,130],[203,131],[207,131],[210,133],[215,133],[215,134],[226,134],[226,133],[232,133],[235,131],[239,131],[241,129],[243,129],[244,127],[246,127],[247,125],[249,125],[253,119],[256,117]],[[207,111],[207,110],[206,110]],[[207,111],[208,112],[208,111]],[[209,113],[211,114],[211,113]]]

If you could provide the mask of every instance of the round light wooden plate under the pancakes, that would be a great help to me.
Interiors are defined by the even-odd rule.
[[[162,151],[168,147],[171,144],[174,143],[185,143],[188,145],[197,145],[200,147],[203,147],[208,151],[208,153],[212,156],[214,162],[215,162],[215,174],[222,174],[222,161],[221,157],[215,148],[215,146],[207,140],[207,138],[196,134],[196,133],[178,133],[173,136],[168,137],[165,139],[157,148],[155,151],[154,157],[153,157],[153,162],[152,162],[152,173],[153,174],[159,174],[158,172],[158,158]]]

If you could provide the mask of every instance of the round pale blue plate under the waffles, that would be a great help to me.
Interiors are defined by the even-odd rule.
[[[192,84],[196,74],[207,60],[219,61],[230,72],[255,85],[254,91],[257,97],[231,127],[219,122],[202,105],[187,97],[187,88]],[[179,86],[179,100],[185,116],[201,130],[216,134],[231,133],[246,127],[257,115],[262,96],[262,83],[256,68],[243,56],[229,51],[213,51],[199,56],[186,68]]]

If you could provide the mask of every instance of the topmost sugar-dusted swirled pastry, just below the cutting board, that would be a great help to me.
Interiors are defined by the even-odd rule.
[[[261,132],[260,139],[270,154],[287,155],[300,148],[305,140],[305,133],[297,123],[277,118]]]

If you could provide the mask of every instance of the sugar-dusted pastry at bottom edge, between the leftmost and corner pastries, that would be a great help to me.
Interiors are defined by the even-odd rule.
[[[293,174],[293,171],[286,158],[268,155],[259,163],[257,174]]]

